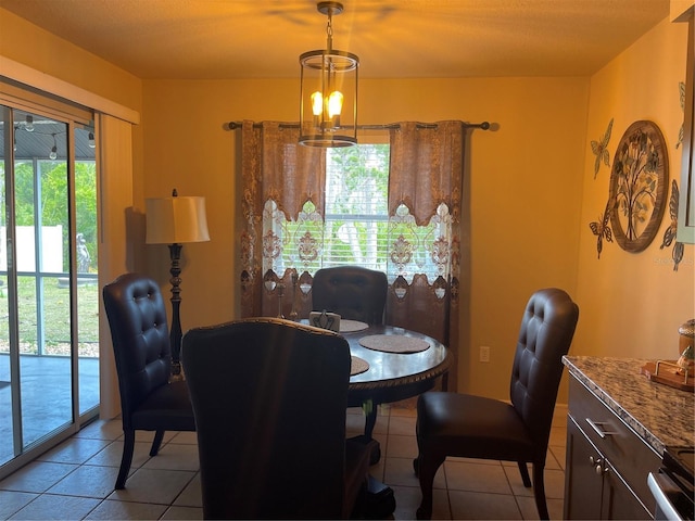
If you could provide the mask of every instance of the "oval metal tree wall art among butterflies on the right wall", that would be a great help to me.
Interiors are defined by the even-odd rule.
[[[652,122],[635,122],[614,155],[609,200],[616,242],[627,252],[649,245],[664,216],[668,156],[664,136]]]

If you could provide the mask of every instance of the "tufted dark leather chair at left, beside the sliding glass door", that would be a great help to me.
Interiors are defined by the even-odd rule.
[[[169,383],[172,351],[166,308],[157,283],[126,274],[102,292],[118,373],[124,447],[115,488],[124,488],[135,449],[135,431],[154,431],[156,456],[165,431],[194,431],[185,381]]]

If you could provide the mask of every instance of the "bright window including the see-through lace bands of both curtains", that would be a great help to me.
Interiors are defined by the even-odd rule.
[[[287,220],[275,201],[264,212],[264,272],[314,274],[321,267],[358,265],[384,271],[390,280],[416,272],[433,279],[448,266],[438,247],[451,240],[448,207],[440,204],[427,226],[417,226],[405,204],[389,218],[389,144],[326,150],[326,217],[313,202]]]

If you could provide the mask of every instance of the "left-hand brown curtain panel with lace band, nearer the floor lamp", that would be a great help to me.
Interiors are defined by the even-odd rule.
[[[292,285],[306,287],[311,280],[305,280],[300,266],[286,262],[283,230],[288,221],[323,219],[324,154],[320,149],[299,144],[299,127],[278,122],[244,120],[241,149],[241,316],[291,318]],[[313,249],[320,251],[320,244]],[[300,306],[306,315],[308,301],[304,293]]]

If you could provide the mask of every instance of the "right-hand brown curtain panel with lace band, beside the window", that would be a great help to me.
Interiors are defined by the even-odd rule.
[[[390,141],[387,322],[447,345],[455,390],[464,127],[405,122],[391,130]]]

